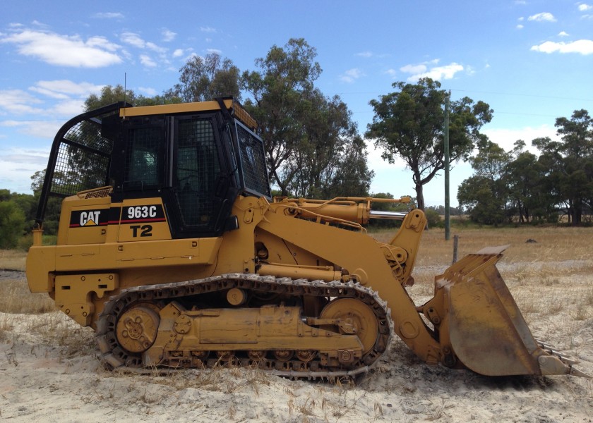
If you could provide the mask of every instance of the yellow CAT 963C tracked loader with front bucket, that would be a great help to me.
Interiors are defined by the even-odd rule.
[[[88,111],[57,133],[27,258],[32,292],[92,326],[113,368],[255,365],[368,372],[399,336],[429,364],[484,375],[580,374],[537,341],[496,269],[468,255],[414,305],[426,218],[381,200],[275,198],[256,121],[233,99]],[[64,197],[42,246],[50,195]],[[409,202],[409,197],[400,200]],[[390,243],[369,219],[400,219]]]

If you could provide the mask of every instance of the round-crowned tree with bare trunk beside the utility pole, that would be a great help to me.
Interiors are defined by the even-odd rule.
[[[366,137],[383,147],[390,163],[401,157],[412,170],[418,207],[424,209],[423,187],[444,169],[443,104],[447,92],[441,83],[422,78],[417,84],[395,82],[397,92],[371,100],[375,116]],[[450,161],[467,159],[483,135],[479,129],[491,121],[493,111],[469,97],[451,103],[449,125]]]

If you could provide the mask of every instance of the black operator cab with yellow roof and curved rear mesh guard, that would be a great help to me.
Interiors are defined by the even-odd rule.
[[[270,199],[256,122],[233,99],[131,107],[73,118],[56,135],[37,223],[49,195],[112,187],[112,202],[162,199],[172,238],[236,228],[237,195]],[[47,186],[46,186],[47,185]],[[160,209],[153,210],[155,219]],[[162,213],[162,212],[160,212]],[[122,216],[124,219],[125,216]]]

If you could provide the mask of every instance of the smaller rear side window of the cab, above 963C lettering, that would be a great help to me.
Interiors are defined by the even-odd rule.
[[[131,128],[126,157],[126,188],[159,188],[164,171],[163,134],[160,128]]]

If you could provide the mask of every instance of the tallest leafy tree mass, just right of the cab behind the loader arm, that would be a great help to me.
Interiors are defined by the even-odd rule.
[[[325,197],[368,192],[366,148],[340,97],[316,89],[321,66],[304,39],[273,46],[244,72],[245,102],[259,124],[270,181],[282,195]]]

